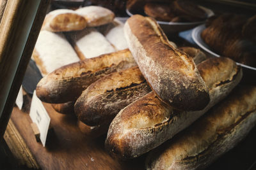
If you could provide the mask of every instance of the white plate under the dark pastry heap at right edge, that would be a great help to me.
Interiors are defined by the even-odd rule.
[[[195,41],[196,45],[200,46],[200,48],[205,50],[205,52],[210,53],[214,57],[220,57],[220,55],[218,53],[214,53],[213,50],[211,50],[211,48],[201,38],[201,32],[204,31],[204,29],[205,29],[204,24],[199,25],[198,27],[195,27],[195,29],[193,29],[193,31],[192,31],[192,39]],[[236,62],[236,63],[241,65],[242,67],[246,67],[248,69],[252,69],[252,70],[256,71],[255,67],[247,66],[247,65],[241,64],[239,62]]]

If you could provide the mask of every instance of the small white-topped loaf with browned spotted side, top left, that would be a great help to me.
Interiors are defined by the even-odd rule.
[[[86,20],[74,10],[54,10],[45,16],[43,30],[51,32],[77,31],[86,27]]]

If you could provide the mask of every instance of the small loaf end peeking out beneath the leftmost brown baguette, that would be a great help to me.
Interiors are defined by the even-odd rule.
[[[74,101],[68,101],[67,103],[52,104],[52,108],[58,113],[72,115],[74,114],[74,104]]]

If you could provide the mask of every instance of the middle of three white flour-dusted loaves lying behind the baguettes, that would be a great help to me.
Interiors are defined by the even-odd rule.
[[[109,41],[94,28],[70,32],[67,36],[81,60],[116,51]]]

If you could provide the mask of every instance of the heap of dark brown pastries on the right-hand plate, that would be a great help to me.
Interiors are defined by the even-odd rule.
[[[253,23],[256,23],[255,16],[247,18],[244,15],[223,14],[209,18],[201,36],[219,55],[256,67],[256,31],[253,31],[253,27],[251,29]]]

